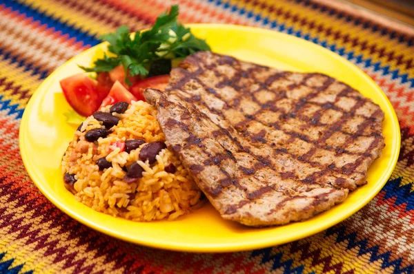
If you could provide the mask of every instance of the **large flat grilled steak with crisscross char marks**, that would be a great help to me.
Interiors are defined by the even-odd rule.
[[[365,184],[384,147],[380,107],[324,74],[197,52],[170,76],[166,92],[144,96],[168,147],[228,220],[311,218]]]

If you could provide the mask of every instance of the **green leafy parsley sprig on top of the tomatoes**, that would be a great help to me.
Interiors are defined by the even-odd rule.
[[[169,12],[161,14],[150,30],[136,32],[131,39],[130,29],[123,25],[115,33],[105,34],[101,39],[108,41],[108,51],[92,67],[81,67],[86,72],[110,72],[122,65],[129,76],[148,74],[150,65],[160,59],[183,58],[200,50],[210,50],[206,41],[197,39],[190,28],[177,22],[178,6],[171,6]],[[115,56],[114,56],[115,54]],[[114,57],[112,57],[114,56]],[[128,78],[126,83],[129,84]]]

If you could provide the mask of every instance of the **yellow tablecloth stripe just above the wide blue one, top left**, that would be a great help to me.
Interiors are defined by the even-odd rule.
[[[112,32],[115,28],[111,28],[107,24],[102,23],[99,19],[94,19],[86,14],[79,12],[69,6],[63,6],[61,3],[53,0],[18,0],[26,6],[46,14],[47,16],[65,22],[88,34],[100,36],[108,32]]]

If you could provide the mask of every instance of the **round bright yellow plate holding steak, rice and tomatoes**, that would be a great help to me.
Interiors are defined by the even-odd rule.
[[[59,80],[81,72],[77,64],[90,65],[97,50],[106,48],[100,44],[53,72],[34,93],[21,120],[24,165],[37,187],[59,209],[92,229],[137,244],[177,251],[242,251],[284,244],[323,231],[364,207],[382,189],[397,162],[400,127],[391,103],[364,72],[319,45],[287,34],[235,25],[189,26],[196,36],[207,39],[214,52],[284,70],[322,72],[380,105],[385,112],[386,147],[368,170],[368,184],[350,193],[342,204],[310,220],[264,229],[222,220],[210,204],[172,222],[131,222],[93,211],[75,201],[63,187],[61,157],[76,127],[68,125],[63,116],[70,106],[61,94]]]

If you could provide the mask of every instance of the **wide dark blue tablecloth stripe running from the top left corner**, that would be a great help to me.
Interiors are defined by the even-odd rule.
[[[8,8],[18,11],[21,14],[26,14],[26,17],[32,17],[34,21],[39,21],[42,25],[46,24],[49,28],[55,28],[56,31],[61,31],[62,34],[68,34],[70,38],[75,37],[77,41],[83,41],[84,45],[97,45],[101,41],[95,35],[90,35],[83,32],[74,25],[69,25],[67,22],[61,22],[53,17],[41,13],[36,8],[25,6],[22,3],[12,0],[2,0]]]

